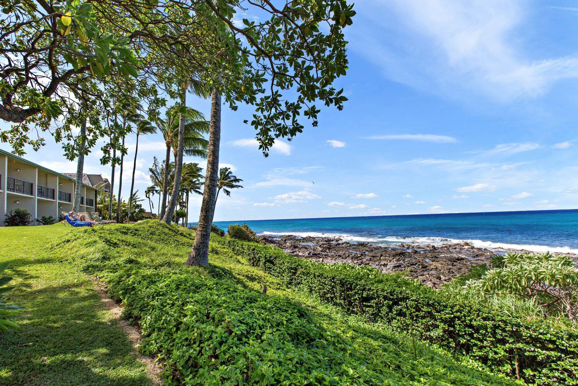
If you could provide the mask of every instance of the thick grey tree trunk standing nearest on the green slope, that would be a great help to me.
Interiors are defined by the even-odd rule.
[[[187,259],[188,266],[209,265],[209,238],[215,211],[215,199],[217,197],[218,149],[221,141],[221,94],[216,89],[211,94],[211,122],[209,127],[209,153],[205,189],[203,190],[197,236],[195,236],[195,243],[192,245],[191,254]]]

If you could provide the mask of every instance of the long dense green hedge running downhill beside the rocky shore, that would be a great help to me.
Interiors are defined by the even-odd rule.
[[[227,237],[212,240],[285,285],[301,288],[347,313],[405,332],[411,318],[421,339],[457,357],[467,355],[492,372],[528,384],[578,385],[578,332],[569,323],[517,319],[373,267],[316,263],[269,245]]]

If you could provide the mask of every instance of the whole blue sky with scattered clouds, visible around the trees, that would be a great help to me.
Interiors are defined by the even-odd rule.
[[[243,124],[250,109],[224,109],[221,164],[245,188],[220,194],[215,220],[578,207],[578,2],[364,0],[355,9],[343,111],[322,111],[318,127],[306,122],[264,158]],[[209,113],[208,101],[188,105]],[[134,137],[127,143],[125,197]],[[140,192],[163,147],[160,135],[140,140]],[[49,138],[25,157],[76,171],[61,154]],[[108,177],[99,157],[87,157],[86,171]],[[191,200],[191,221],[200,203]]]

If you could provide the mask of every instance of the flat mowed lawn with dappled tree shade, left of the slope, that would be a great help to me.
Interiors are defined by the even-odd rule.
[[[62,224],[1,227],[20,329],[0,334],[1,385],[151,385],[123,327],[92,281],[51,251]]]

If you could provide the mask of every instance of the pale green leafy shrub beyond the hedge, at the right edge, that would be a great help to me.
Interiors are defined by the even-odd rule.
[[[466,291],[486,296],[514,295],[535,300],[548,314],[578,318],[578,270],[569,256],[506,253],[492,259],[492,269],[466,281]]]

